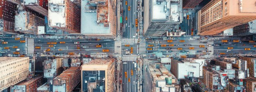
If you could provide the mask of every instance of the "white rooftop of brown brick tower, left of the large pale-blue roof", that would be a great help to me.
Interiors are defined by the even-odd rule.
[[[49,27],[66,27],[65,0],[48,1]]]

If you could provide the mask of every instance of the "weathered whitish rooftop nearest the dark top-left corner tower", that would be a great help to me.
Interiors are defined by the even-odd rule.
[[[28,31],[27,21],[29,21],[27,11],[17,11],[15,15],[15,31]]]

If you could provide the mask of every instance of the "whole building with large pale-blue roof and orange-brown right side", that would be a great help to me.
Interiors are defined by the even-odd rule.
[[[81,34],[116,36],[116,0],[81,0]]]

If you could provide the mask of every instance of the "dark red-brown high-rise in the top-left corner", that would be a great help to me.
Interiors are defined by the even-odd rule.
[[[16,8],[17,4],[8,0],[0,0],[0,19],[2,19],[2,28],[0,30],[15,32],[14,21]]]

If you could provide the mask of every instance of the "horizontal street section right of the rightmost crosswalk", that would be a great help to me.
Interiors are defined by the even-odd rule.
[[[227,43],[222,43],[221,40],[229,40]],[[221,46],[214,46],[214,54],[255,54],[254,50],[256,50],[256,43],[248,43],[248,42],[233,42],[233,40],[239,39],[221,39],[214,41],[214,44],[221,44]],[[233,49],[228,49],[228,47],[233,47]],[[250,48],[251,50],[245,50],[245,48]],[[230,50],[230,51],[227,51]]]

